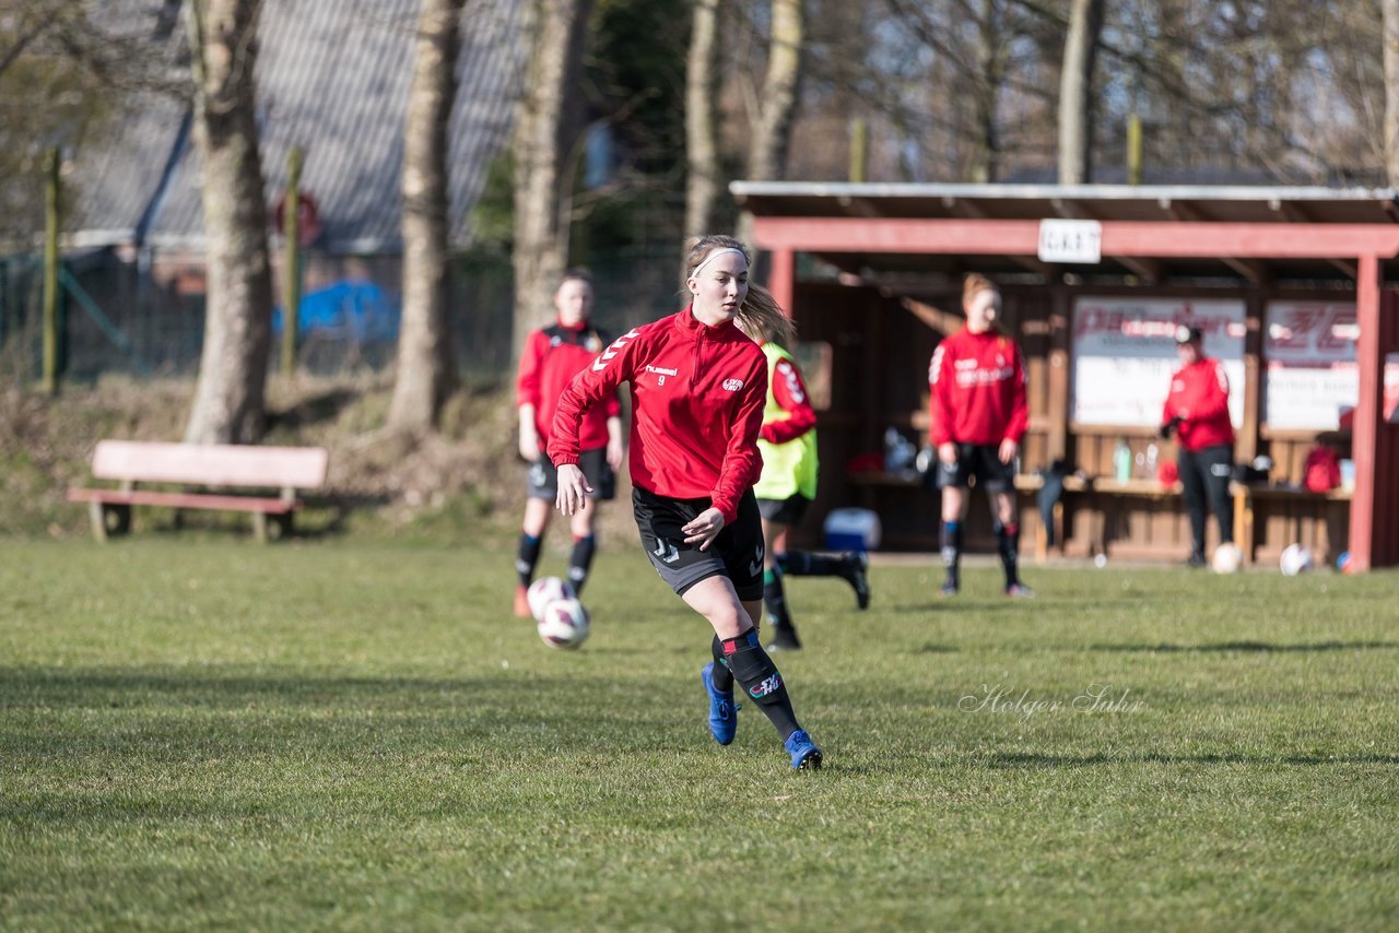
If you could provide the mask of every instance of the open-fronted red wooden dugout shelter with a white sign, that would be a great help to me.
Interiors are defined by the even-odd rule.
[[[1121,443],[1139,464],[1153,452],[1174,459],[1154,438],[1160,410],[1114,422],[1112,406],[1149,392],[1150,368],[1133,362],[1143,347],[1164,348],[1170,362],[1157,369],[1174,362],[1163,325],[1189,322],[1206,325],[1216,357],[1219,325],[1238,373],[1235,460],[1273,462],[1266,483],[1235,484],[1245,558],[1276,560],[1302,541],[1328,558],[1349,550],[1356,569],[1399,564],[1399,424],[1385,404],[1386,358],[1399,389],[1399,292],[1386,287],[1399,274],[1393,190],[736,182],[732,192],[754,214],[769,290],[802,340],[827,350],[816,512],[859,502],[880,512],[890,544],[936,541],[932,494],[907,476],[842,467],[880,450],[887,425],[926,439],[928,359],[960,326],[960,280],[975,270],[1002,287],[1002,323],[1025,352],[1021,515],[1041,541],[1035,471],[1059,460],[1081,478],[1069,480],[1053,519],[1058,551],[1184,557],[1179,495],[1140,470],[1119,481],[1112,464]],[[1107,351],[1090,346],[1094,327]],[[1119,358],[1114,340],[1126,347]],[[1333,404],[1351,383],[1353,403]],[[1332,424],[1305,414],[1322,403]],[[1353,462],[1353,484],[1300,488],[1319,442]]]

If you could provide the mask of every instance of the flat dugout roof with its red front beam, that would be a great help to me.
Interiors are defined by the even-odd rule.
[[[1205,224],[1277,229],[1276,225],[1361,225],[1382,236],[1399,224],[1399,194],[1393,189],[1332,189],[1286,186],[1210,185],[880,185],[821,182],[734,182],[739,204],[760,221],[758,231],[781,225],[783,242],[811,253],[837,269],[879,281],[944,281],[975,266],[986,273],[1053,276],[1133,276],[1150,281],[1171,278],[1354,278],[1354,256],[1337,257],[1325,249],[1315,253],[1288,250],[1258,256],[1241,249],[1230,256],[1223,246],[1213,255],[1189,249],[1161,249],[1158,255],[1114,255],[1102,249],[1091,266],[1045,263],[1035,256],[1031,238],[1011,246],[1011,224],[1045,220],[1098,221],[1100,224]],[[834,221],[834,224],[831,222]],[[979,246],[970,242],[958,252],[957,238],[943,245],[921,241],[909,221],[970,225],[1000,224]],[[872,235],[880,228],[880,235]],[[891,232],[891,231],[898,232]],[[1142,228],[1137,229],[1164,229]],[[824,231],[824,232],[823,232]],[[926,232],[926,231],[923,231]],[[1171,234],[1163,234],[1167,239]],[[1179,236],[1179,234],[1177,234]],[[862,245],[863,238],[863,245]],[[757,238],[758,245],[765,245]],[[1025,249],[1028,246],[1028,250]],[[1386,257],[1386,267],[1399,262]]]

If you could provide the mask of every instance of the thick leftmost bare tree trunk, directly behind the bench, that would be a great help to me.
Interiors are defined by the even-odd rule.
[[[264,427],[273,304],[253,84],[262,0],[192,0],[189,10],[208,291],[185,441],[249,442]]]

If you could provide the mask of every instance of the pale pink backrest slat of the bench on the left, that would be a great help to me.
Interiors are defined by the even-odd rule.
[[[92,476],[137,483],[313,490],[326,481],[329,460],[323,448],[99,441]]]

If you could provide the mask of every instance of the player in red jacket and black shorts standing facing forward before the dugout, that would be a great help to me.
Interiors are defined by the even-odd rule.
[[[963,523],[970,480],[977,477],[977,488],[990,499],[1006,596],[1034,596],[1020,582],[1014,488],[1020,438],[1030,424],[1025,365],[1020,347],[995,327],[1000,292],[989,278],[967,276],[963,311],[967,326],[937,344],[928,369],[929,438],[937,448],[936,483],[943,497],[940,537],[947,579],[942,593],[954,596],[961,587]]]

